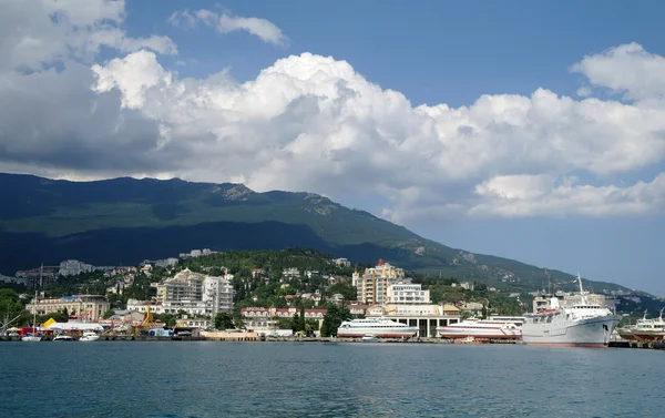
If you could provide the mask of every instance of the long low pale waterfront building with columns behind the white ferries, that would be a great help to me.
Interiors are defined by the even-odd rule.
[[[460,309],[452,305],[375,305],[366,310],[366,317],[385,317],[418,327],[419,337],[436,337],[438,327],[460,322]]]

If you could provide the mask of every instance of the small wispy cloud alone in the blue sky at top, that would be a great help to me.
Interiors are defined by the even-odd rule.
[[[228,33],[233,31],[246,31],[262,41],[276,45],[286,45],[288,39],[277,26],[266,19],[260,18],[243,18],[228,13],[217,14],[213,11],[201,9],[193,12],[183,10],[174,12],[168,19],[173,24],[186,23],[194,26],[202,22],[219,33]]]

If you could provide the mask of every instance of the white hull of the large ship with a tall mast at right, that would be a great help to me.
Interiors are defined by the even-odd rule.
[[[552,320],[522,325],[522,340],[534,346],[607,347],[621,317],[605,315],[579,320]]]

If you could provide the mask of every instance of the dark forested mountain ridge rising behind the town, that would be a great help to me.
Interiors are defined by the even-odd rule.
[[[379,258],[408,269],[534,290],[543,268],[426,239],[365,211],[313,193],[256,193],[242,184],[114,179],[69,182],[0,174],[0,273],[78,258],[131,265],[192,248],[311,247],[356,263]],[[551,271],[560,289],[574,277]],[[630,292],[590,282],[595,292]]]

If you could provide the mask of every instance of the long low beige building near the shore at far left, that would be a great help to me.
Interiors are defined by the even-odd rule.
[[[37,315],[48,315],[57,312],[69,314],[70,318],[79,318],[85,320],[99,320],[104,316],[104,313],[111,308],[111,304],[105,296],[101,295],[76,295],[62,297],[38,297],[37,304],[33,299],[25,305],[25,309]]]

